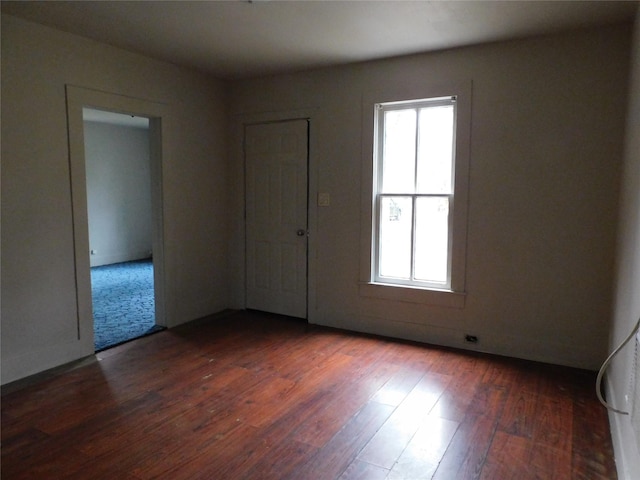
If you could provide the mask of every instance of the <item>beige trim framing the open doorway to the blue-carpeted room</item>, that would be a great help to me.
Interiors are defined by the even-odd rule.
[[[166,279],[164,268],[163,152],[167,152],[168,106],[151,100],[66,85],[67,132],[76,281],[78,340],[87,355],[95,352],[91,267],[89,257],[89,216],[84,152],[84,107],[149,118],[151,166],[152,248],[156,324],[166,326]]]

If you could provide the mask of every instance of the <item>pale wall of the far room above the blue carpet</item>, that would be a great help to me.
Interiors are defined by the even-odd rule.
[[[84,122],[91,266],[151,255],[149,130]]]

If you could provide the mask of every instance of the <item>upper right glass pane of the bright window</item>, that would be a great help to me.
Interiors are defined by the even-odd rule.
[[[451,193],[453,109],[453,105],[420,109],[417,193]]]

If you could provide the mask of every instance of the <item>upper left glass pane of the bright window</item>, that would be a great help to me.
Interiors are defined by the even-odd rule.
[[[413,193],[415,189],[416,111],[384,113],[382,192]]]

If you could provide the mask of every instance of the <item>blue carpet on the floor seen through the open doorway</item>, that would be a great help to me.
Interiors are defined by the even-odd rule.
[[[151,260],[93,267],[91,292],[96,352],[164,329],[155,323]]]

